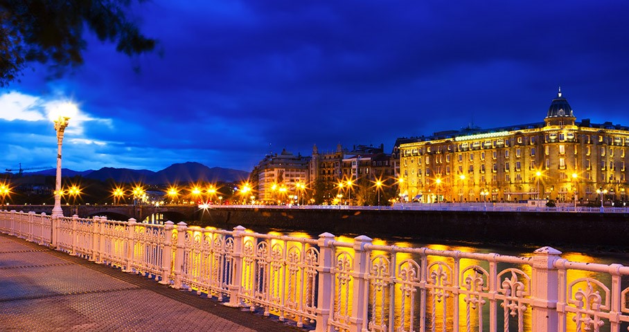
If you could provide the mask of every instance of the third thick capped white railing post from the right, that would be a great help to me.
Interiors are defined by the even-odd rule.
[[[319,234],[319,289],[317,295],[317,320],[316,332],[328,331],[328,320],[332,311],[332,299],[334,289],[334,275],[332,268],[334,266],[334,235],[330,233]]]

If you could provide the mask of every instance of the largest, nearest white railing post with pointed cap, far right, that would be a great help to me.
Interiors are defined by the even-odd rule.
[[[554,265],[559,255],[561,252],[551,247],[533,253],[533,331],[558,330],[559,278]]]

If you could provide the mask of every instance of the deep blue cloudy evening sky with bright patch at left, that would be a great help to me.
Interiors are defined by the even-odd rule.
[[[78,103],[63,166],[250,171],[269,151],[380,145],[473,123],[629,124],[629,1],[166,1],[136,6],[155,52],[88,38],[60,80],[0,90],[0,166],[53,167],[59,100]],[[140,73],[133,66],[141,67]]]

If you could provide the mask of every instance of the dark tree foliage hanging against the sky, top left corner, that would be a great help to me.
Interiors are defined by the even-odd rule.
[[[61,76],[83,64],[85,28],[103,42],[116,43],[125,55],[154,49],[125,14],[132,0],[3,0],[0,1],[0,86],[21,75],[27,64],[48,65]]]

